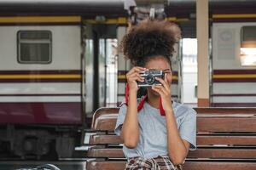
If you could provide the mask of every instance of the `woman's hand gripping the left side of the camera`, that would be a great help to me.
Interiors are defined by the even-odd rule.
[[[144,77],[140,76],[140,72],[145,71],[146,68],[135,66],[126,74],[126,79],[129,87],[129,92],[136,92],[138,90],[137,82],[144,82]]]

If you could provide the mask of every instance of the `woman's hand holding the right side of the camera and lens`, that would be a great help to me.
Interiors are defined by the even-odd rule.
[[[165,80],[155,77],[155,79],[161,82],[162,85],[153,86],[152,89],[160,94],[162,99],[163,109],[165,111],[172,111],[172,93],[171,93],[171,83],[167,80],[167,74],[165,74]]]

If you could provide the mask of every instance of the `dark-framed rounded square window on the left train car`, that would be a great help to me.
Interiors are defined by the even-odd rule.
[[[51,62],[50,31],[18,31],[18,61],[21,64],[49,64]]]

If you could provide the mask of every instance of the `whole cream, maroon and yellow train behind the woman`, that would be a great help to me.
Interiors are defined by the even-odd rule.
[[[73,157],[74,148],[84,145],[93,112],[123,101],[132,65],[119,42],[135,21],[124,3],[0,2],[1,158]],[[234,1],[227,10],[229,5],[210,1],[210,105],[255,107],[255,54],[249,62],[241,48],[255,48],[256,2]],[[138,9],[159,7],[183,37],[195,38],[194,1],[137,1]],[[172,99],[178,102],[182,48],[177,44],[172,56]]]

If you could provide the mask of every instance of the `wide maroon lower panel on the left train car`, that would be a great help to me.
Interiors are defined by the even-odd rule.
[[[81,124],[81,102],[0,103],[0,123]]]

